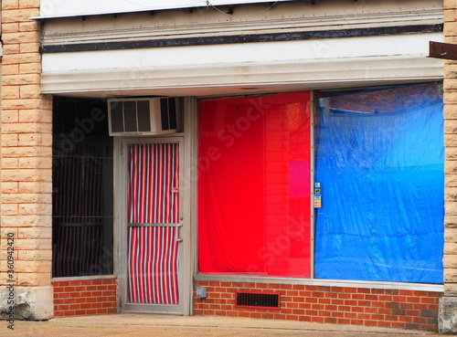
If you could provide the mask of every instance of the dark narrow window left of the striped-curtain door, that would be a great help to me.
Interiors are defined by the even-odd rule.
[[[54,98],[54,278],[113,273],[112,167],[106,102]]]

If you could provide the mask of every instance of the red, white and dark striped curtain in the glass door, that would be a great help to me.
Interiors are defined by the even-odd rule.
[[[128,300],[178,303],[179,145],[129,146]]]

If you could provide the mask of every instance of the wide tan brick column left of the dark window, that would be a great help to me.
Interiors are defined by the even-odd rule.
[[[53,315],[52,100],[40,95],[39,0],[2,2],[0,311],[9,311],[6,237],[14,237],[16,318]],[[9,290],[12,290],[11,288]]]

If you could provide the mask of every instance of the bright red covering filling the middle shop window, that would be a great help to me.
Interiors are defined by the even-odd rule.
[[[199,102],[200,273],[310,276],[310,102]]]

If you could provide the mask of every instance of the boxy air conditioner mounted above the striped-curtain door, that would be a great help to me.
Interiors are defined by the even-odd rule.
[[[111,136],[159,135],[177,131],[179,98],[108,100]]]

